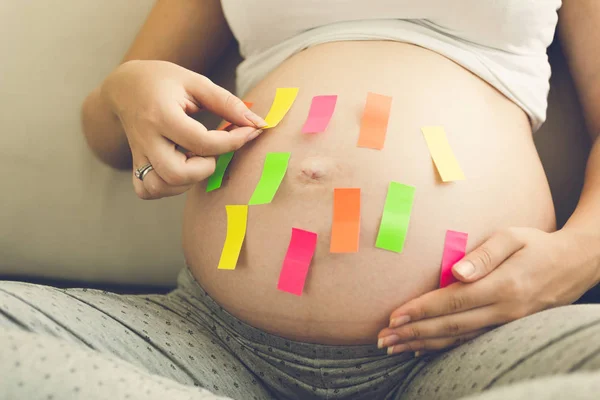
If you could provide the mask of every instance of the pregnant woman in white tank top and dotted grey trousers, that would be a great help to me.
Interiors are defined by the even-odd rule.
[[[453,399],[577,372],[520,383],[511,398],[551,398],[571,378],[594,393],[600,309],[554,307],[600,280],[600,147],[576,212],[556,231],[532,140],[560,7],[159,0],[124,62],[87,98],[83,123],[102,160],[137,171],[139,197],[187,192],[188,268],[165,296],[3,283],[12,361],[1,385],[32,399]],[[566,0],[560,18],[597,132],[600,6]],[[238,95],[252,111],[201,75],[219,67],[232,34],[245,57]],[[298,97],[263,130],[279,87],[300,88]],[[380,151],[356,146],[368,92],[393,97]],[[338,95],[327,131],[302,134],[311,99],[324,94]],[[201,110],[234,129],[207,130],[190,117]],[[426,125],[445,127],[466,181],[439,181]],[[215,156],[232,150],[223,187],[207,193]],[[286,177],[271,204],[250,207],[237,268],[219,270],[225,205],[247,204],[267,152],[291,152]],[[390,181],[416,187],[400,254],[374,246]],[[363,193],[357,253],[329,252],[339,187]],[[302,296],[277,290],[292,227],[318,233]],[[448,229],[469,233],[468,254],[454,268],[462,282],[438,289]]]

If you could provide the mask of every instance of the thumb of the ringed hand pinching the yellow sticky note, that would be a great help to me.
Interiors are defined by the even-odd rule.
[[[242,100],[203,75],[191,72],[186,90],[204,108],[235,125],[267,126],[265,120],[250,111]]]

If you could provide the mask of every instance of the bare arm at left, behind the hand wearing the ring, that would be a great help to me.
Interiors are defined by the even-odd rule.
[[[219,0],[158,0],[123,62],[164,60],[207,74],[231,39]],[[125,132],[102,90],[101,85],[83,104],[84,135],[102,161],[130,168]]]

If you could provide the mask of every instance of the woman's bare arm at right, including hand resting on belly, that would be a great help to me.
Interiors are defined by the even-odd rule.
[[[559,34],[594,142],[585,186],[565,226],[551,234],[511,228],[454,266],[456,284],[395,310],[379,337],[388,353],[435,351],[490,328],[566,305],[600,281],[600,4],[563,1]],[[410,322],[407,322],[410,321]]]

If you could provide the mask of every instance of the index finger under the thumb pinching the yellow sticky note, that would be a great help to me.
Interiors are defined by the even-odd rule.
[[[166,138],[199,156],[235,151],[262,133],[262,130],[248,126],[230,131],[209,131],[180,108],[173,109],[164,129]]]

